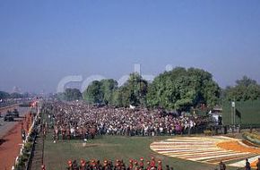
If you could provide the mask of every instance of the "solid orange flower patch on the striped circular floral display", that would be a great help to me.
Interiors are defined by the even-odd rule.
[[[260,154],[260,149],[245,147],[240,145],[238,141],[223,141],[217,144],[217,147],[226,150],[233,150],[239,152],[251,152],[255,154]]]

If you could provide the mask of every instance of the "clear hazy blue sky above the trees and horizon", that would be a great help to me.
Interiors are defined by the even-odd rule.
[[[55,92],[65,76],[119,79],[134,64],[260,82],[260,1],[0,0],[0,90]]]

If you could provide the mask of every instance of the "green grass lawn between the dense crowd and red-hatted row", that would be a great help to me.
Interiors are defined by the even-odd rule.
[[[126,166],[129,158],[139,160],[144,157],[146,161],[149,157],[155,156],[161,159],[163,167],[165,165],[173,166],[174,170],[214,170],[216,166],[186,161],[178,158],[165,157],[153,152],[150,144],[156,140],[164,140],[173,137],[123,137],[123,136],[99,136],[95,140],[89,140],[85,147],[80,140],[65,140],[53,143],[48,136],[45,142],[44,162],[48,170],[65,169],[68,159],[84,158],[116,160],[124,159]],[[40,165],[39,165],[40,166]],[[237,168],[230,167],[230,170]]]

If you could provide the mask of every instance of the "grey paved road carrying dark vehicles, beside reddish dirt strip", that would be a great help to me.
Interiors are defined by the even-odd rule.
[[[18,109],[18,111],[20,113],[20,118],[15,118],[14,122],[4,122],[5,113],[2,113],[2,117],[0,117],[0,139],[4,136],[4,134],[9,132],[16,123],[21,121],[22,118],[24,117],[24,115],[26,115],[30,111],[30,107],[19,107],[18,106],[16,108]]]

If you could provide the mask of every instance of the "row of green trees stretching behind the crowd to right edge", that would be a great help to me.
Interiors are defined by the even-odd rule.
[[[62,95],[66,100],[83,99],[89,104],[187,111],[202,105],[216,106],[221,99],[256,100],[260,98],[260,86],[244,76],[236,81],[236,86],[221,89],[210,72],[176,67],[160,73],[152,82],[133,72],[120,87],[117,81],[106,79],[92,81],[82,93],[79,89],[66,89]]]

